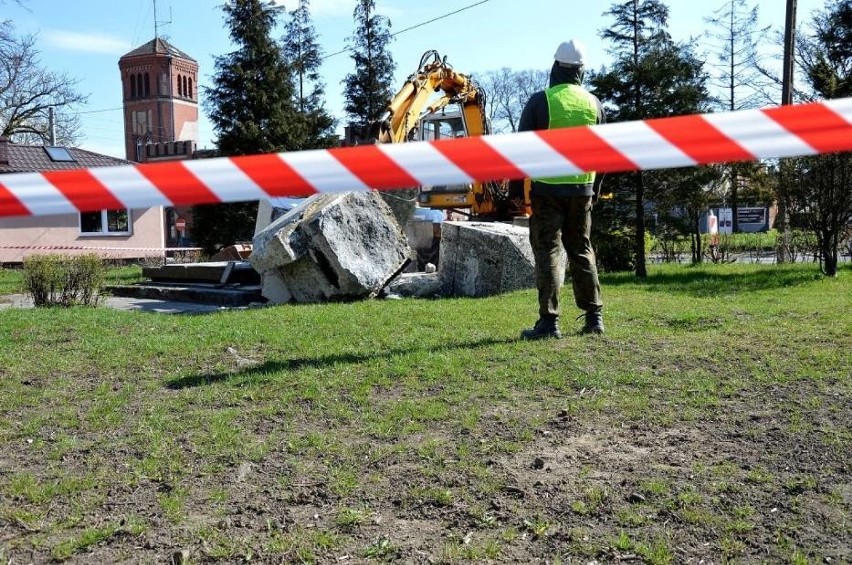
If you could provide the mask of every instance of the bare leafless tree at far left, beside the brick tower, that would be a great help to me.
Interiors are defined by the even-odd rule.
[[[86,101],[77,81],[42,66],[34,36],[18,36],[10,21],[0,22],[0,136],[20,143],[51,138],[50,108],[56,109],[57,143],[74,145],[79,119],[65,110]]]

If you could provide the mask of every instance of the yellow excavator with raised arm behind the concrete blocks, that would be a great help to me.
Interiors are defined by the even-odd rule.
[[[456,72],[437,51],[427,51],[391,99],[374,136],[379,143],[405,143],[487,135],[485,102],[485,91],[470,76]],[[473,219],[511,221],[529,215],[529,181],[526,185],[523,203],[509,199],[507,181],[422,186],[418,203]]]

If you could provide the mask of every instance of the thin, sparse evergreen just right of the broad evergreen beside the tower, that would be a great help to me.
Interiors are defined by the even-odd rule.
[[[337,144],[334,118],[325,109],[325,85],[319,69],[322,50],[311,20],[310,0],[300,0],[291,14],[282,40],[284,59],[296,75],[294,104],[306,126],[304,149],[322,149]]]

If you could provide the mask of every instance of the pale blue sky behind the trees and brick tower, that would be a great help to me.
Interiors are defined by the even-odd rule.
[[[830,0],[798,0],[798,25],[804,27],[814,10]],[[296,0],[276,0],[291,10]],[[353,63],[345,51],[354,32],[356,0],[312,0],[311,13],[325,59],[321,73],[326,108],[345,123],[344,77]],[[784,29],[785,0],[751,0],[759,7],[759,26],[771,26],[766,50],[780,57],[778,38]],[[669,31],[707,53],[706,18],[725,0],[668,0]],[[587,66],[598,69],[611,58],[600,32],[612,23],[604,13],[612,1],[599,0],[376,0],[377,10],[391,21],[396,34],[390,51],[401,86],[423,53],[435,49],[462,73],[473,75],[509,67],[549,69],[560,42],[580,39],[587,47]],[[156,12],[155,12],[156,7]],[[156,17],[155,17],[156,13]],[[80,146],[124,158],[121,77],[118,59],[150,41],[157,33],[199,64],[202,107],[199,148],[213,148],[215,132],[203,107],[203,87],[212,85],[216,56],[234,50],[219,0],[0,0],[0,20],[11,20],[18,34],[34,34],[44,67],[74,77],[88,95],[80,113]],[[155,26],[156,20],[156,26]],[[276,38],[283,34],[282,21]],[[777,42],[777,43],[776,43]],[[779,63],[780,68],[780,63]]]

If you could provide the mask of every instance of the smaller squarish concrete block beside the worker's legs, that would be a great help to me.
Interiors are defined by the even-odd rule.
[[[441,296],[491,296],[535,288],[529,229],[499,222],[441,224]]]

